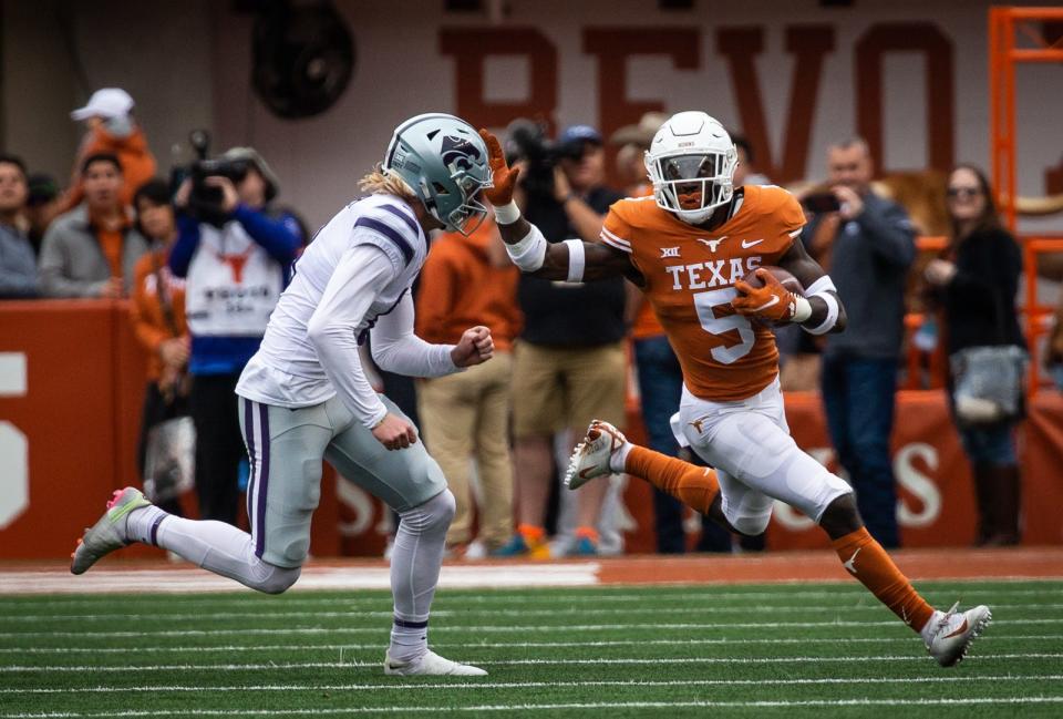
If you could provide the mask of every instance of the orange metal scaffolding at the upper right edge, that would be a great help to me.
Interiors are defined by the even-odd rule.
[[[992,154],[992,181],[997,188],[1001,213],[1008,227],[1016,234],[1016,198],[1019,196],[1015,167],[1015,65],[1029,62],[1063,62],[1063,39],[1049,43],[1035,22],[1063,22],[1063,8],[1012,8],[989,10],[989,132]],[[1018,37],[1026,40],[1020,47]],[[1018,234],[1016,234],[1018,237]],[[1030,393],[1041,384],[1038,341],[1045,333],[1045,318],[1051,307],[1038,304],[1038,255],[1063,251],[1063,239],[1020,237],[1023,248],[1026,292],[1023,315],[1026,341],[1030,347]]]

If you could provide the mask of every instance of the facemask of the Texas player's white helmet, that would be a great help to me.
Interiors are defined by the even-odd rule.
[[[646,154],[658,206],[691,225],[700,225],[716,207],[731,202],[736,166],[733,146],[727,152]]]

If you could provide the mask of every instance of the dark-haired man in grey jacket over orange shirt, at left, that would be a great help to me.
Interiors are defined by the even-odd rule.
[[[81,172],[85,202],[49,226],[41,246],[41,288],[49,297],[128,295],[147,242],[122,204],[122,165],[111,153],[89,155]]]

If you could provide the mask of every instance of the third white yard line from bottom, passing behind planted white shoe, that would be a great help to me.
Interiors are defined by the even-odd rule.
[[[980,654],[979,661],[1002,659],[1063,659],[1060,653],[1014,653],[1014,654]],[[796,664],[796,662],[826,662],[826,661],[930,661],[930,657],[922,655],[878,655],[878,656],[847,656],[847,657],[660,657],[648,659],[644,657],[596,657],[588,659],[484,659],[478,664],[484,666],[582,666],[582,665],[662,665],[662,664]],[[0,666],[3,674],[65,674],[81,671],[94,672],[132,672],[132,671],[257,671],[268,669],[348,669],[357,667],[379,667],[380,661],[278,661],[267,664],[157,664],[157,665],[71,665],[61,667],[9,665]]]

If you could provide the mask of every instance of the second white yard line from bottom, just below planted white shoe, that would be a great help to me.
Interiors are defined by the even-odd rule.
[[[450,691],[452,689],[569,689],[580,687],[760,687],[760,686],[815,686],[815,685],[861,685],[861,684],[957,684],[968,681],[1026,681],[1036,679],[1039,681],[1063,679],[1061,674],[1030,674],[1030,675],[998,675],[969,677],[963,675],[953,675],[947,677],[821,677],[818,679],[685,679],[670,681],[445,681],[442,684],[341,684],[341,685],[246,685],[246,686],[226,686],[210,687],[204,685],[193,686],[135,686],[135,687],[63,687],[58,689],[0,689],[0,695],[50,695],[50,694],[107,694],[112,691],[122,691],[126,694],[167,694],[167,692],[229,692],[229,691],[381,691],[381,690],[435,690],[442,689]]]

